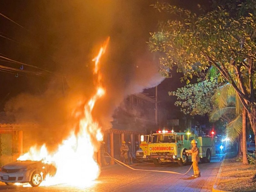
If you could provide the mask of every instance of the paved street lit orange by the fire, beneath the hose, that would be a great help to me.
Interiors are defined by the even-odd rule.
[[[193,174],[193,169],[188,175],[170,174],[162,172],[145,172],[134,171],[126,167],[114,165],[104,168],[100,177],[95,183],[87,188],[76,188],[66,185],[56,185],[50,187],[24,188],[22,186],[6,186],[0,185],[0,191],[111,191],[111,192],[168,192],[168,191],[212,191],[212,186],[217,176],[221,164],[220,157],[212,157],[211,163],[199,164],[201,169],[200,178],[190,177]],[[148,170],[165,170],[185,173],[189,169],[188,166],[180,167],[178,164],[165,164],[156,167],[154,164],[139,164],[133,166],[136,169]]]

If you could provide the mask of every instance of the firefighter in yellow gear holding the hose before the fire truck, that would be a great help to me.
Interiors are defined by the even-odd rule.
[[[199,161],[199,148],[196,145],[196,140],[191,141],[192,144],[192,149],[186,150],[186,153],[192,154],[192,162],[193,162],[193,170],[194,170],[194,175],[192,177],[201,177],[200,175],[200,170],[198,167],[198,161]]]

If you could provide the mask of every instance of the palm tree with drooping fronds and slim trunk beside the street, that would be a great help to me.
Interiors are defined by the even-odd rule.
[[[210,114],[210,121],[220,118],[228,122],[226,132],[232,141],[242,134],[243,138],[243,164],[248,164],[246,154],[246,110],[242,107],[238,95],[230,84],[219,87],[214,95],[216,109]]]

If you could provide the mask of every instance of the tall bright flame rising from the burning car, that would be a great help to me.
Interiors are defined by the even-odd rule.
[[[63,140],[58,150],[49,154],[45,145],[39,150],[36,147],[30,148],[29,152],[20,156],[17,160],[35,160],[54,163],[57,172],[54,177],[46,176],[40,186],[56,185],[65,183],[74,186],[91,185],[100,174],[100,167],[95,161],[95,143],[102,141],[103,133],[101,127],[92,118],[92,109],[95,102],[105,94],[101,86],[101,74],[99,72],[99,62],[105,52],[109,42],[109,37],[100,48],[99,54],[92,60],[95,62],[94,74],[97,78],[96,93],[86,103],[83,111],[83,118],[79,122],[79,131],[71,132],[70,136]],[[81,113],[81,111],[79,111]]]

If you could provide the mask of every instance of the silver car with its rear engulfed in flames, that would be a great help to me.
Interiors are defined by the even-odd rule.
[[[37,187],[46,175],[54,176],[56,171],[57,169],[53,164],[43,161],[15,161],[1,168],[0,181],[6,185],[29,183],[32,187]]]

